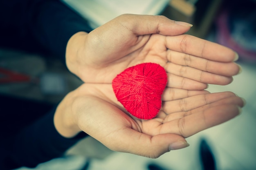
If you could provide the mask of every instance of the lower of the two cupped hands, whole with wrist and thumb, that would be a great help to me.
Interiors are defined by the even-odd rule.
[[[54,123],[65,137],[84,131],[112,150],[157,158],[188,146],[184,138],[236,117],[244,105],[231,92],[166,88],[162,99],[157,117],[141,120],[117,102],[110,84],[83,84],[59,104]]]

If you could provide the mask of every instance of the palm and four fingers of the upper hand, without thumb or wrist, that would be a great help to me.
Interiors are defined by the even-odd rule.
[[[235,53],[223,46],[178,33],[162,35],[165,31],[137,35],[121,24],[111,27],[112,22],[95,29],[85,40],[85,65],[79,75],[84,82],[111,83],[121,71],[142,62],[162,65],[175,88],[229,84],[238,73],[239,67],[232,62]]]

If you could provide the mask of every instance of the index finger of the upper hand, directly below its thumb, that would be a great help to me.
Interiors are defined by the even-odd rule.
[[[166,47],[173,51],[217,62],[233,62],[238,59],[237,53],[233,50],[192,35],[168,36],[166,37]]]

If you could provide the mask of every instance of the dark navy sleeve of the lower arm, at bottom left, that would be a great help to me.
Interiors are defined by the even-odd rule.
[[[61,157],[68,148],[87,136],[84,132],[70,139],[61,136],[54,126],[54,113],[55,108],[13,137],[5,139],[1,170],[35,167],[39,163]]]

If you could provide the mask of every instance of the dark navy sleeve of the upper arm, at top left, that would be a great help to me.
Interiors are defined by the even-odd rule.
[[[0,46],[60,57],[88,22],[58,0],[0,0]]]

